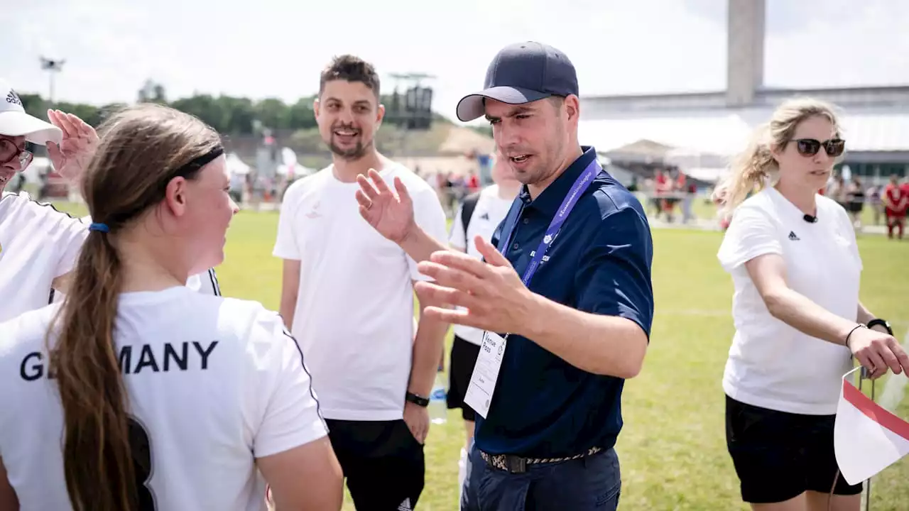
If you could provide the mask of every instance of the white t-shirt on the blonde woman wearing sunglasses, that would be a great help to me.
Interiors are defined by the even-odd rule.
[[[862,259],[842,206],[817,195],[817,222],[773,187],[736,209],[718,258],[733,277],[735,336],[723,377],[730,397],[806,415],[836,413],[849,349],[806,336],[770,315],[744,263],[782,255],[788,285],[818,306],[855,321]]]

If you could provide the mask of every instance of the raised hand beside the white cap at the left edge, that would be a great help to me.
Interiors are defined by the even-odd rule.
[[[95,155],[98,134],[95,128],[87,125],[77,115],[48,110],[47,118],[63,132],[60,145],[47,143],[47,155],[57,173],[71,183],[78,182],[85,174],[88,162]]]

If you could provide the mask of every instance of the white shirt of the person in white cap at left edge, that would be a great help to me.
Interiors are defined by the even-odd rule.
[[[25,192],[0,198],[0,322],[46,306],[75,265],[88,225]]]

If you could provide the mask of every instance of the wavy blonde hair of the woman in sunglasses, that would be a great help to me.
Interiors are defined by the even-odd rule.
[[[817,115],[829,120],[839,132],[834,105],[811,97],[785,101],[774,110],[769,122],[754,130],[748,146],[734,157],[728,177],[714,190],[713,198],[721,204],[722,215],[732,215],[748,194],[776,179],[779,166],[774,151],[782,151],[792,140],[795,128]]]

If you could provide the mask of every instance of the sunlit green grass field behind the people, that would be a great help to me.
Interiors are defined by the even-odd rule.
[[[225,263],[217,268],[226,296],[277,309],[281,262],[271,255],[276,224],[274,212],[236,216]],[[644,370],[625,386],[624,430],[616,447],[623,509],[747,509],[724,439],[720,383],[734,328],[729,312],[732,283],[715,257],[721,238],[715,232],[654,231],[652,340]],[[891,320],[902,340],[909,326],[909,242],[866,235],[859,245],[864,260],[861,298],[874,314]],[[878,393],[884,383],[878,382]],[[909,396],[904,396],[898,414],[909,417]],[[449,414],[445,425],[431,428],[420,509],[457,508],[457,460],[463,442],[457,412]],[[871,508],[909,509],[907,481],[909,458],[904,458],[874,478]]]

